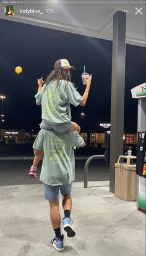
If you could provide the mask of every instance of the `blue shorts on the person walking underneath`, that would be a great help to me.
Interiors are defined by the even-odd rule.
[[[62,196],[67,196],[71,194],[72,183],[67,185],[59,185],[59,186],[50,186],[44,183],[44,193],[45,199],[49,201],[56,201],[59,199],[59,189],[61,191]]]

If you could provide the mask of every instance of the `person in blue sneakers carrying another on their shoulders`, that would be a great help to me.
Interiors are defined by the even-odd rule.
[[[59,212],[59,190],[62,194],[63,229],[67,237],[74,237],[72,227],[72,181],[75,178],[74,146],[84,147],[85,142],[77,130],[60,134],[55,130],[41,129],[33,144],[33,150],[43,150],[44,157],[40,180],[44,184],[45,199],[49,201],[51,224],[55,237],[51,246],[61,252],[64,250],[64,235],[61,234],[61,214]]]

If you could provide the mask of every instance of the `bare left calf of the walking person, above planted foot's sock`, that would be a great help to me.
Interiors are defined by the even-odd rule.
[[[59,200],[49,201],[50,218],[53,229],[58,229],[61,226],[61,216],[59,213]]]

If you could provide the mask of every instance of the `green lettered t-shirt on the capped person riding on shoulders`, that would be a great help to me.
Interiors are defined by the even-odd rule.
[[[76,107],[82,101],[74,85],[66,80],[61,80],[58,88],[56,80],[52,80],[43,86],[35,98],[41,104],[41,118],[48,124],[71,122],[70,104]]]

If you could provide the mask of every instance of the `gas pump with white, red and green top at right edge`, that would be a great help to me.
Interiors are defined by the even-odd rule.
[[[137,144],[137,209],[146,211],[146,89],[145,83],[131,89],[132,98],[138,99]]]

